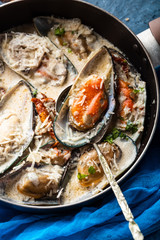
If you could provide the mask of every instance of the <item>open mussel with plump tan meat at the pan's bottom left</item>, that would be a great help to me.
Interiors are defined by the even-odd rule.
[[[62,204],[62,195],[78,156],[78,151],[73,151],[71,159],[63,167],[29,160],[18,163],[0,178],[1,199],[33,206]]]

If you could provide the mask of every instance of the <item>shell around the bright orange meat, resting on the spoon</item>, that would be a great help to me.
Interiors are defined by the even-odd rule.
[[[77,131],[70,124],[69,110],[74,98],[86,79],[98,75],[104,81],[105,94],[108,98],[108,108],[100,120],[89,131]],[[62,107],[55,118],[54,132],[57,139],[64,145],[80,147],[91,141],[99,141],[108,129],[115,109],[115,75],[112,58],[105,46],[97,50],[81,70],[72,85]]]

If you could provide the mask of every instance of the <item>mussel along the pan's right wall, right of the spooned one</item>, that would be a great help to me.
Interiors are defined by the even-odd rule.
[[[116,128],[126,131],[134,141],[137,141],[144,129],[146,108],[146,83],[129,60],[115,49],[109,49],[118,85],[118,118]],[[125,104],[126,102],[126,104]],[[127,105],[127,102],[133,106]]]

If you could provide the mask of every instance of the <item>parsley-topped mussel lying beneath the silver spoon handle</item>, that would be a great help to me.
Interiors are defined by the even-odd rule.
[[[128,136],[125,139],[119,136],[112,143],[103,141],[98,144],[98,147],[116,178],[123,174],[136,159],[136,144]],[[72,172],[62,196],[64,204],[90,198],[103,191],[108,185],[97,152],[92,146],[81,148],[78,158],[75,156],[75,161],[78,162],[77,167]]]

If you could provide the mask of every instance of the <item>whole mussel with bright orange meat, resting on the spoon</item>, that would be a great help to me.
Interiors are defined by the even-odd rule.
[[[79,73],[55,118],[57,139],[71,147],[83,146],[95,138],[98,141],[109,126],[115,104],[112,58],[103,46]]]

